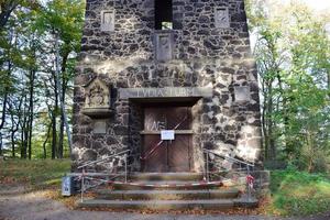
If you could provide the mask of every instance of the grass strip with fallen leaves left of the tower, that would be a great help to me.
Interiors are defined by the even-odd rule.
[[[59,186],[70,160],[10,160],[0,162],[0,184],[24,184],[32,189]]]

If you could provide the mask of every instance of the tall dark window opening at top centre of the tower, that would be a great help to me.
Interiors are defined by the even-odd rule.
[[[173,30],[172,0],[155,0],[155,30]]]

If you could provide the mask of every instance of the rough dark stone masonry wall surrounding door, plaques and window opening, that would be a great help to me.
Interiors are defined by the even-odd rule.
[[[261,151],[258,89],[251,57],[243,0],[174,0],[174,59],[156,62],[153,0],[87,0],[86,24],[74,98],[74,168],[125,148],[130,167],[140,169],[142,112],[120,100],[118,88],[211,87],[213,96],[193,108],[195,170],[201,148],[256,162]],[[216,29],[215,8],[228,7],[230,28]],[[102,10],[116,10],[114,32],[102,32]],[[94,77],[112,86],[114,113],[106,134],[94,134],[96,119],[81,113],[86,85]],[[248,88],[238,100],[237,88]],[[133,123],[134,122],[134,123]],[[120,163],[120,162],[114,162]]]

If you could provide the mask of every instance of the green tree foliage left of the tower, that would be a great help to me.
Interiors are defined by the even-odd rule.
[[[12,107],[16,107],[19,101],[22,101],[22,105],[14,111],[6,112],[4,128],[0,131],[1,138],[6,139],[7,147],[11,147],[11,143],[8,141],[12,141],[9,140],[12,125],[18,123],[19,129],[15,131],[12,142],[18,151],[23,146],[26,147],[30,133],[24,133],[24,131],[30,130],[28,124],[32,120],[33,155],[31,157],[44,156],[45,141],[46,155],[50,156],[52,132],[56,132],[57,139],[61,136],[58,132],[61,124],[59,94],[64,92],[65,102],[68,106],[72,105],[74,68],[76,56],[80,50],[85,1],[13,0],[10,2],[14,6],[0,1],[1,12],[8,11],[10,7],[13,8],[6,25],[1,28],[0,34],[0,109],[3,106],[4,95]],[[54,57],[56,53],[54,47],[57,40],[59,43],[59,84],[63,91],[59,91],[58,84],[55,87]],[[56,95],[57,97],[55,97]],[[31,100],[33,105],[31,105]],[[9,103],[7,109],[9,109]],[[72,111],[72,108],[68,109]],[[69,113],[72,114],[72,112]],[[56,117],[55,121],[50,120],[52,116]],[[70,120],[68,121],[70,122]],[[51,130],[47,135],[45,131],[53,122],[56,123],[56,131],[55,129]],[[67,140],[64,138],[65,156],[68,156],[67,145]],[[57,140],[54,148],[59,147]],[[18,151],[16,153],[20,153]],[[8,156],[11,155],[9,151],[6,153]]]

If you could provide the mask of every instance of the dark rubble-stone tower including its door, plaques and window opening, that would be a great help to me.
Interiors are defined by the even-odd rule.
[[[243,0],[87,0],[74,167],[130,150],[133,172],[256,162],[258,85]]]

